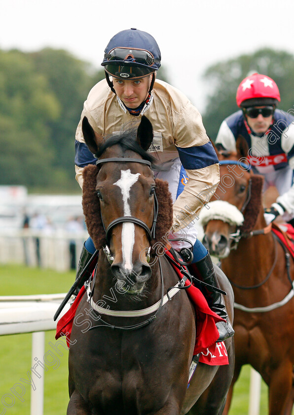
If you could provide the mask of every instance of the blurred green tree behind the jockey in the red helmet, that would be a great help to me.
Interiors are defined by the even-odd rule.
[[[281,94],[279,108],[293,108],[292,84],[294,78],[294,56],[285,51],[269,48],[243,54],[210,66],[203,79],[208,86],[206,110],[203,123],[208,135],[215,140],[221,122],[238,110],[236,91],[239,83],[251,73],[258,72],[272,78]]]

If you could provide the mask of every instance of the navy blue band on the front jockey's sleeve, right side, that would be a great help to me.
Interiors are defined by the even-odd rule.
[[[196,170],[219,163],[218,156],[209,141],[203,146],[177,147],[182,165],[187,170]]]

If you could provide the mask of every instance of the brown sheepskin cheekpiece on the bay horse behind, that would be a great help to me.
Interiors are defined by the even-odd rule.
[[[261,194],[263,186],[263,176],[254,174],[251,176],[251,198],[244,211],[244,223],[240,228],[241,234],[246,234],[254,228],[257,216],[262,206]]]

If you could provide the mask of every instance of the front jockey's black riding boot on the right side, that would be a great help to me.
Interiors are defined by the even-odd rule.
[[[214,265],[209,253],[204,258],[200,259],[200,261],[197,261],[195,265],[197,266],[199,273],[201,274],[203,282],[210,284],[213,287],[219,288]],[[234,335],[234,330],[228,321],[228,315],[225,310],[225,305],[223,304],[221,299],[221,293],[218,291],[209,290],[209,287],[206,287],[205,289],[209,293],[208,302],[210,308],[225,320],[225,322],[220,321],[216,323],[216,326],[220,333],[220,337],[217,341],[225,340],[226,338]]]

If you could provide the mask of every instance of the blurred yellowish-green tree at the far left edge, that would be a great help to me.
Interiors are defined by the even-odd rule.
[[[46,122],[60,106],[27,56],[0,51],[0,184],[49,182],[52,152]]]

